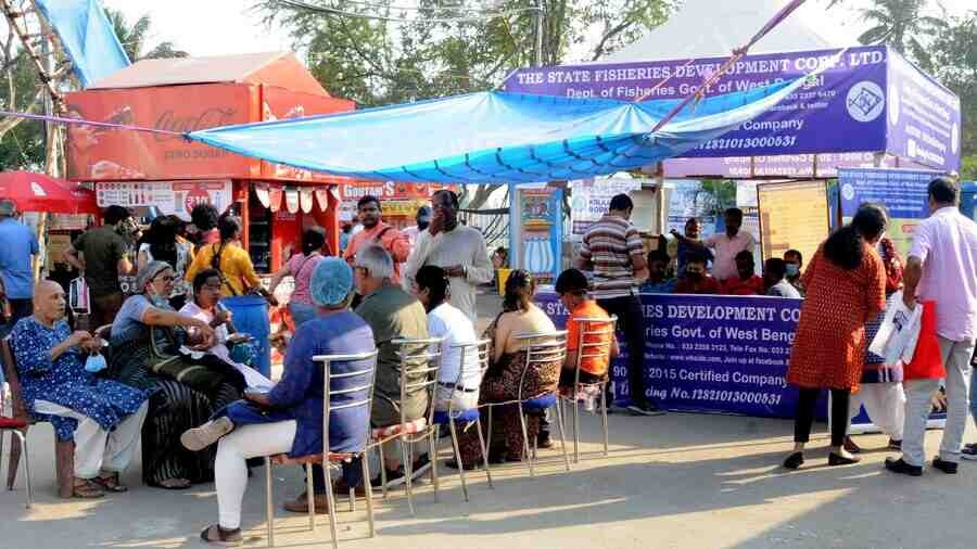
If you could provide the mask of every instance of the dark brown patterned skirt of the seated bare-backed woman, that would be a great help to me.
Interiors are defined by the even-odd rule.
[[[479,394],[479,406],[488,403],[504,403],[519,398],[519,381],[525,367],[525,353],[504,355],[496,368],[491,368],[482,380]],[[523,397],[535,396],[556,390],[559,382],[561,365],[534,366],[525,373]],[[487,437],[487,407],[482,408],[483,435]],[[526,421],[526,434],[533,441],[540,433],[540,418],[530,416]],[[491,456],[506,456],[510,460],[522,459],[523,438],[519,421],[519,406],[503,405],[492,407],[492,436],[488,438]],[[458,446],[461,463],[466,468],[483,463],[482,447],[474,427],[462,429],[458,433]]]

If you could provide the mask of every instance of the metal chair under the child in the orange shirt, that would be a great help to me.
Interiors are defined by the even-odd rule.
[[[611,316],[607,318],[588,318],[579,317],[571,318],[569,322],[580,322],[580,341],[576,345],[576,361],[573,371],[573,386],[569,395],[560,393],[560,399],[557,403],[557,413],[563,416],[563,403],[572,400],[573,403],[573,462],[580,462],[580,397],[583,392],[596,390],[600,393],[600,416],[604,425],[604,455],[607,456],[608,447],[608,427],[607,427],[607,384],[608,376],[605,374],[604,380],[593,383],[581,383],[580,366],[587,358],[604,358],[610,366],[611,347],[613,346],[614,330],[618,324],[618,317]]]

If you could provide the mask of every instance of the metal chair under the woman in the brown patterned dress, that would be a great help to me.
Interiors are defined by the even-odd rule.
[[[525,345],[525,366],[519,379],[519,393],[515,400],[504,403],[488,403],[488,447],[492,447],[492,408],[495,406],[504,406],[516,404],[519,406],[519,423],[522,427],[523,444],[523,461],[529,468],[530,476],[536,476],[534,461],[536,459],[537,441],[534,438],[532,445],[529,441],[529,429],[526,426],[526,413],[536,412],[545,413],[547,409],[553,408],[557,404],[557,390],[559,382],[560,369],[563,367],[563,360],[567,358],[567,331],[540,332],[540,333],[520,333],[516,334],[516,339],[522,341]],[[555,382],[544,387],[543,391],[533,395],[525,394],[526,373],[532,369],[546,368],[551,371],[551,378]],[[557,424],[560,430],[560,448],[563,451],[563,463],[567,471],[570,471],[570,457],[567,454],[567,441],[563,432],[563,418],[559,413],[556,414]]]

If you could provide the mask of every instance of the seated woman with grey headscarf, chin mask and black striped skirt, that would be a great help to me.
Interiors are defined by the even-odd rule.
[[[173,283],[173,268],[164,261],[150,261],[140,269],[139,293],[126,299],[112,323],[112,363],[106,373],[152,393],[142,429],[143,482],[182,489],[210,482],[214,455],[185,450],[180,433],[240,398],[243,380],[240,374],[234,378],[231,372],[194,366],[177,353],[185,343],[208,348],[214,330],[207,322],[173,310],[168,302]],[[188,336],[188,329],[196,332],[194,337]],[[181,381],[175,381],[178,376]]]

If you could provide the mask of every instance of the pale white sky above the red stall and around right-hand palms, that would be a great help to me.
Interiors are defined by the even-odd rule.
[[[586,1],[586,0],[583,0]],[[715,0],[740,2],[744,0]],[[148,47],[172,40],[178,49],[194,56],[255,53],[291,50],[291,38],[280,27],[268,28],[259,14],[250,10],[253,0],[102,0],[110,8],[122,10],[132,22],[143,14],[152,17]],[[810,17],[822,26],[826,35],[854,38],[864,30],[857,9],[871,4],[870,0],[847,0],[842,8],[825,12],[827,0],[809,0],[791,16]],[[974,0],[941,0],[952,14],[963,14]],[[395,2],[396,3],[396,2]],[[403,0],[409,5],[410,0]],[[973,9],[973,8],[970,8]]]

